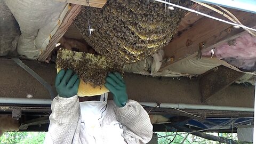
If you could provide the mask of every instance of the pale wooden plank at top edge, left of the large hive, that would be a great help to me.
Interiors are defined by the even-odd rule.
[[[55,1],[88,6],[86,0],[55,0]],[[107,3],[107,0],[89,0],[89,4],[92,7],[102,8],[106,3]]]

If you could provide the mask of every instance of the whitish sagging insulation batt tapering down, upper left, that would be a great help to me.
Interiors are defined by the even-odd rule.
[[[5,3],[20,26],[17,52],[28,59],[37,59],[67,3],[52,0],[5,0]]]

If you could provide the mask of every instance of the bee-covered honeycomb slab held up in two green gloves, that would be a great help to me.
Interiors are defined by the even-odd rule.
[[[57,71],[60,69],[73,69],[80,77],[81,82],[78,87],[78,95],[80,97],[108,92],[104,86],[107,74],[114,71],[123,73],[122,66],[113,63],[113,61],[104,56],[66,49],[58,51],[56,68]]]

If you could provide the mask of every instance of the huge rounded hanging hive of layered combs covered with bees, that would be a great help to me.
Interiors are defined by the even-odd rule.
[[[188,6],[190,1],[171,0]],[[168,5],[167,5],[168,6]],[[102,9],[84,6],[75,26],[98,53],[119,65],[147,58],[167,45],[185,11],[149,0],[108,0]],[[92,35],[89,36],[88,18]]]

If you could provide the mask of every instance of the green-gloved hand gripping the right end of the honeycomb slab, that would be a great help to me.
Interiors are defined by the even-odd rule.
[[[124,107],[128,101],[126,86],[119,73],[109,73],[106,77],[105,87],[114,94],[114,102],[117,107]]]

